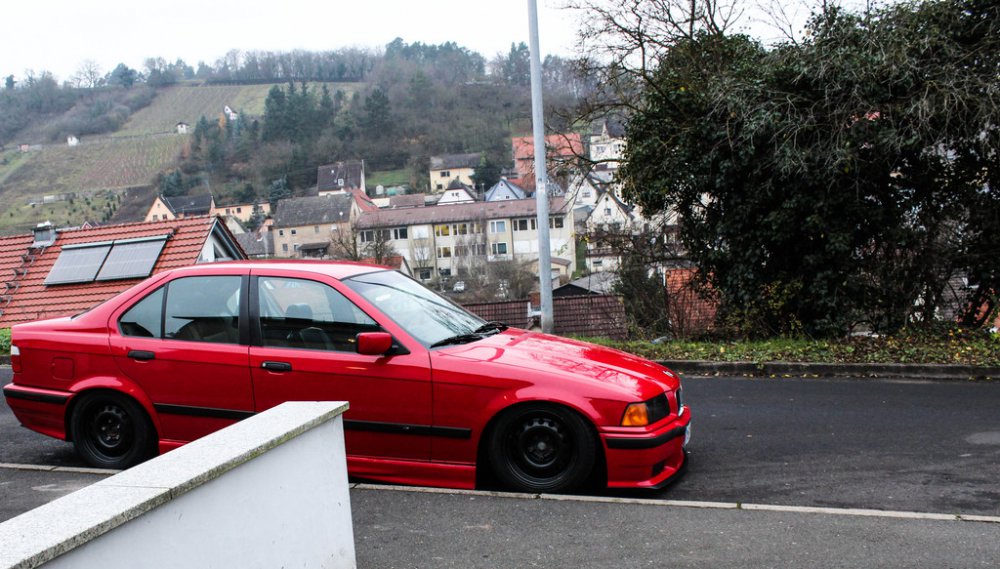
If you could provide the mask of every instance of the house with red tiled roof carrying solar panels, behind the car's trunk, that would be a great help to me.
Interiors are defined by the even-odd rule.
[[[69,316],[177,267],[245,259],[217,218],[57,230],[0,237],[0,328]]]

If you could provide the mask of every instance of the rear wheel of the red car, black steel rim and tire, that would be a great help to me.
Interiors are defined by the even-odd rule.
[[[123,470],[153,454],[153,427],[134,400],[119,393],[84,395],[73,409],[76,452],[95,468]]]

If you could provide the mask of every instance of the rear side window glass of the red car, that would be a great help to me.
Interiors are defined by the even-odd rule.
[[[125,336],[238,344],[240,283],[238,276],[171,281],[125,312],[118,327]]]

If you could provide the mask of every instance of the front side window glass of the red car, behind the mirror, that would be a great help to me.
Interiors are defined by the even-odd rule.
[[[323,283],[261,277],[257,287],[264,346],[354,352],[358,334],[381,330],[353,302]]]

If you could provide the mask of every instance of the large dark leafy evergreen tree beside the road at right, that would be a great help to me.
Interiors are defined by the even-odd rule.
[[[673,38],[628,122],[627,195],[681,214],[748,331],[894,330],[939,314],[955,276],[995,303],[998,4],[827,7],[810,31]]]

